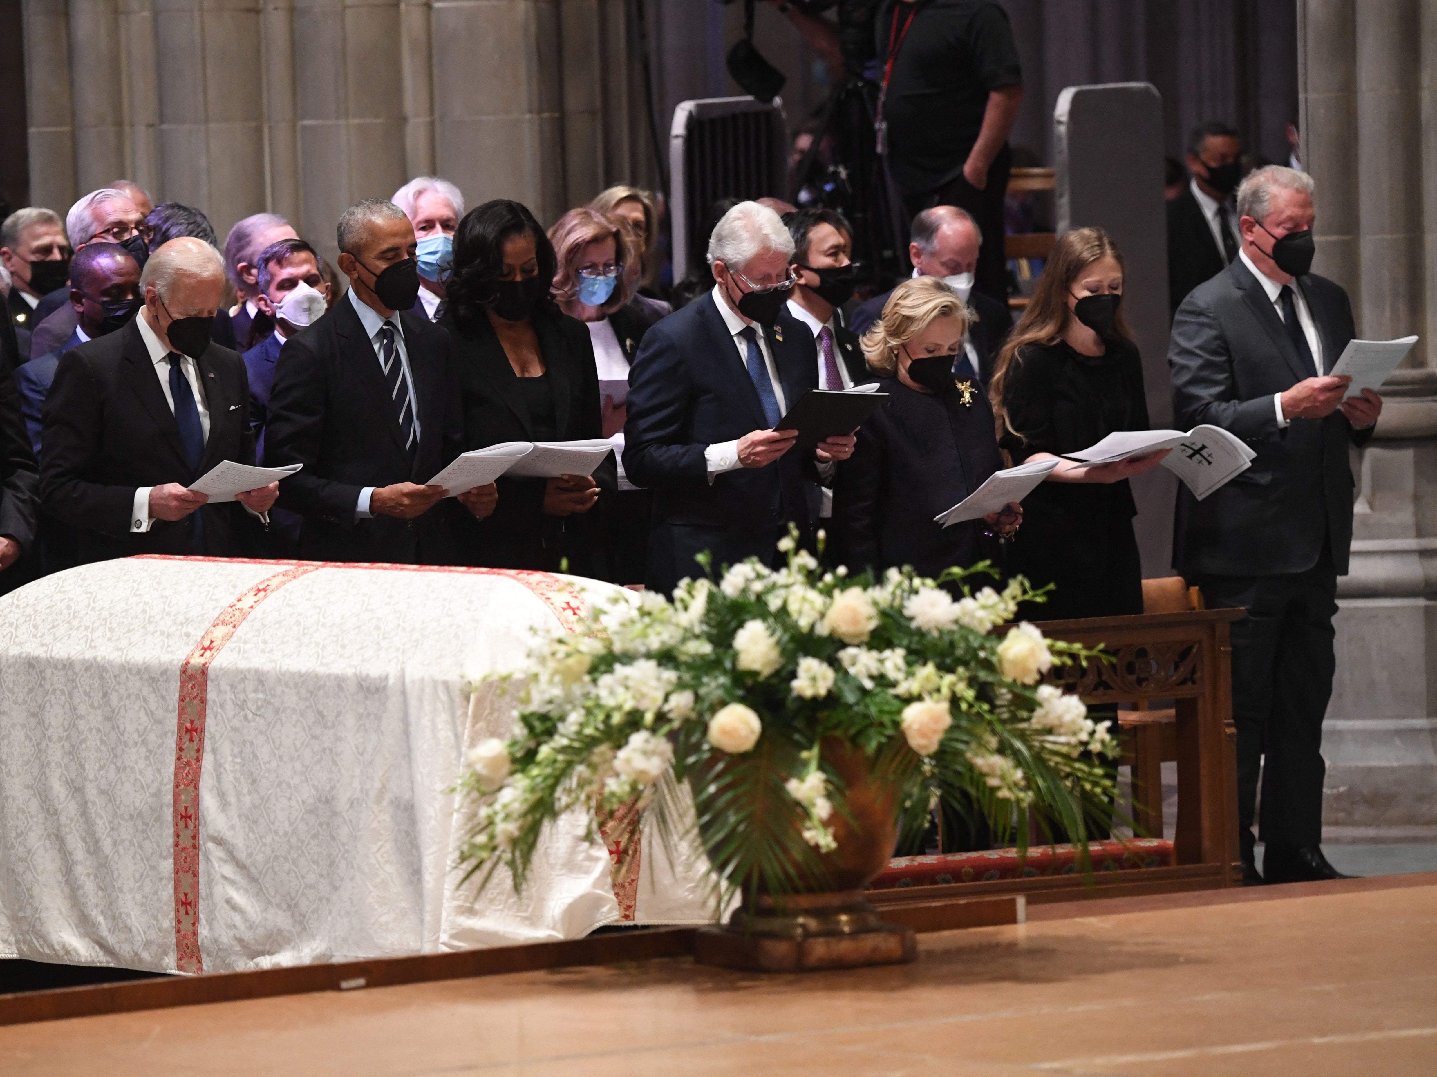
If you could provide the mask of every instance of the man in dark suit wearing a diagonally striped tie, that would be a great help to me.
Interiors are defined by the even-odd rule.
[[[463,449],[464,417],[444,329],[418,318],[414,226],[366,198],[339,217],[349,295],[289,338],[274,368],[264,462],[302,463],[280,508],[297,512],[300,556],[456,564],[451,506],[424,483]],[[479,518],[494,485],[460,495]]]

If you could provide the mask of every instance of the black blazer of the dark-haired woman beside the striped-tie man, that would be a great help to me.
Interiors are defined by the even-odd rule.
[[[529,407],[519,377],[489,321],[461,328],[453,313],[440,325],[453,339],[454,372],[464,413],[464,452],[500,441],[532,441]],[[604,437],[599,418],[599,375],[583,322],[562,313],[536,315],[539,354],[553,391],[559,441]],[[618,486],[612,454],[593,473],[602,490]],[[470,518],[458,531],[464,564],[489,568],[556,571],[562,558],[578,575],[601,575],[599,516],[545,516],[546,479],[499,479],[499,505],[487,519]]]

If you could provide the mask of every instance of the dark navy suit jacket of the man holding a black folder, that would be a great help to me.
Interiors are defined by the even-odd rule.
[[[818,387],[813,335],[787,311],[766,332],[789,405]],[[767,467],[739,467],[708,482],[704,449],[769,427],[759,391],[729,328],[704,295],[654,325],[629,370],[624,470],[654,492],[647,585],[668,594],[713,554],[717,574],[750,555],[766,562],[787,523],[810,528],[805,479],[812,459],[789,452]]]

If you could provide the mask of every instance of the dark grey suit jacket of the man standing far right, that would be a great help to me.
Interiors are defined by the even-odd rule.
[[[1298,279],[1331,370],[1355,335],[1346,292],[1321,276]],[[1288,336],[1267,293],[1242,260],[1183,301],[1168,345],[1174,421],[1210,423],[1246,440],[1252,466],[1206,500],[1178,490],[1174,562],[1184,575],[1259,577],[1305,572],[1332,544],[1338,574],[1352,542],[1349,444],[1341,411],[1279,427],[1273,394],[1315,375]]]

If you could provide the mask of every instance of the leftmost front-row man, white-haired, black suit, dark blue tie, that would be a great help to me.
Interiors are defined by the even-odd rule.
[[[277,483],[205,505],[187,489],[224,460],[253,463],[244,362],[210,339],[224,266],[177,239],[145,263],[145,306],[60,357],[40,431],[46,518],[80,564],[132,554],[249,554]]]

